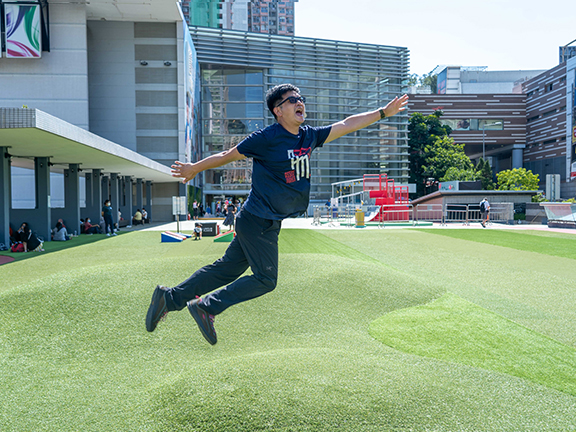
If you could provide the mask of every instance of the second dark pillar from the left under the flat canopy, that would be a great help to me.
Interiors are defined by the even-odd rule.
[[[45,241],[50,241],[52,218],[50,215],[50,159],[34,158],[34,180],[36,186],[36,209],[28,218],[31,229]]]

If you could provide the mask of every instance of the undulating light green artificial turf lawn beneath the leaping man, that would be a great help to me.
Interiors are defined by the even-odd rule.
[[[186,311],[152,334],[144,316],[156,284],[226,244],[134,232],[3,265],[0,430],[574,429],[576,398],[546,372],[573,362],[576,261],[485,244],[485,232],[284,230],[278,287],[218,316],[214,347]],[[400,324],[395,341],[374,333],[402,314],[434,322],[446,299],[434,337]],[[463,344],[542,373],[446,349],[467,318],[490,331],[468,323]],[[520,336],[535,349],[497,343]]]

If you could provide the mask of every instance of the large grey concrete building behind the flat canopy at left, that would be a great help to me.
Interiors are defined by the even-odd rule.
[[[17,3],[20,4],[27,5]],[[78,142],[100,145],[104,140],[110,145],[110,153],[132,154],[144,164],[161,165],[168,173],[167,167],[175,159],[190,160],[193,146],[186,136],[186,119],[188,112],[194,112],[190,109],[194,97],[188,95],[195,93],[197,80],[192,80],[190,91],[190,80],[185,80],[188,76],[179,73],[189,63],[184,50],[189,32],[178,6],[167,0],[145,7],[129,2],[111,6],[95,0],[90,4],[49,3],[46,7],[50,38],[43,38],[43,46],[47,48],[49,43],[50,49],[34,59],[5,55],[0,58],[0,108],[39,110],[52,116],[52,123],[65,129],[68,135],[84,137],[85,131],[89,138],[79,138]],[[151,16],[155,19],[151,20]],[[197,71],[194,61],[192,67]],[[197,92],[196,111],[199,88]],[[0,144],[15,145],[10,141]],[[90,211],[91,219],[98,220],[102,202],[87,202],[93,195],[88,189],[100,185],[102,178],[102,193],[98,196],[118,196],[115,208],[121,210],[124,218],[131,218],[133,205],[143,205],[144,196],[144,203],[156,221],[173,219],[171,198],[184,193],[183,186],[169,175],[151,184],[153,172],[148,178],[136,178],[127,175],[129,170],[122,164],[108,166],[110,161],[90,161],[73,153],[55,158],[56,151],[45,149],[44,145],[47,144],[39,141],[33,155],[19,154],[18,150],[10,152],[8,202],[14,223],[21,220],[22,212],[39,205],[38,184],[29,187],[35,181],[38,183],[37,156],[47,157],[50,167],[47,214],[58,215],[67,206],[64,184],[66,170],[72,164],[78,165],[75,173],[80,173],[83,217],[84,212]],[[116,146],[126,152],[117,151]],[[143,188],[143,183],[148,183],[148,187]],[[136,190],[140,193],[135,194]],[[136,195],[139,200],[134,198]],[[97,210],[90,210],[91,206]],[[74,222],[79,222],[79,217]]]

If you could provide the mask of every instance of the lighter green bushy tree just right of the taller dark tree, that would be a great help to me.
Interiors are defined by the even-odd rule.
[[[454,139],[448,136],[437,137],[432,145],[427,145],[424,157],[422,168],[426,177],[445,179],[450,169],[451,173],[468,171],[470,175],[474,175],[474,166],[464,153],[464,144],[456,144]]]

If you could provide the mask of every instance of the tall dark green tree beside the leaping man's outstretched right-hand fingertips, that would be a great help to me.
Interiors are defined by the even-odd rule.
[[[450,126],[442,125],[441,110],[430,115],[415,112],[408,121],[408,146],[410,152],[410,182],[416,184],[418,196],[424,195],[426,178],[424,166],[429,165],[426,158],[426,147],[433,146],[438,138],[447,137],[452,133]],[[439,179],[439,177],[436,177]]]

